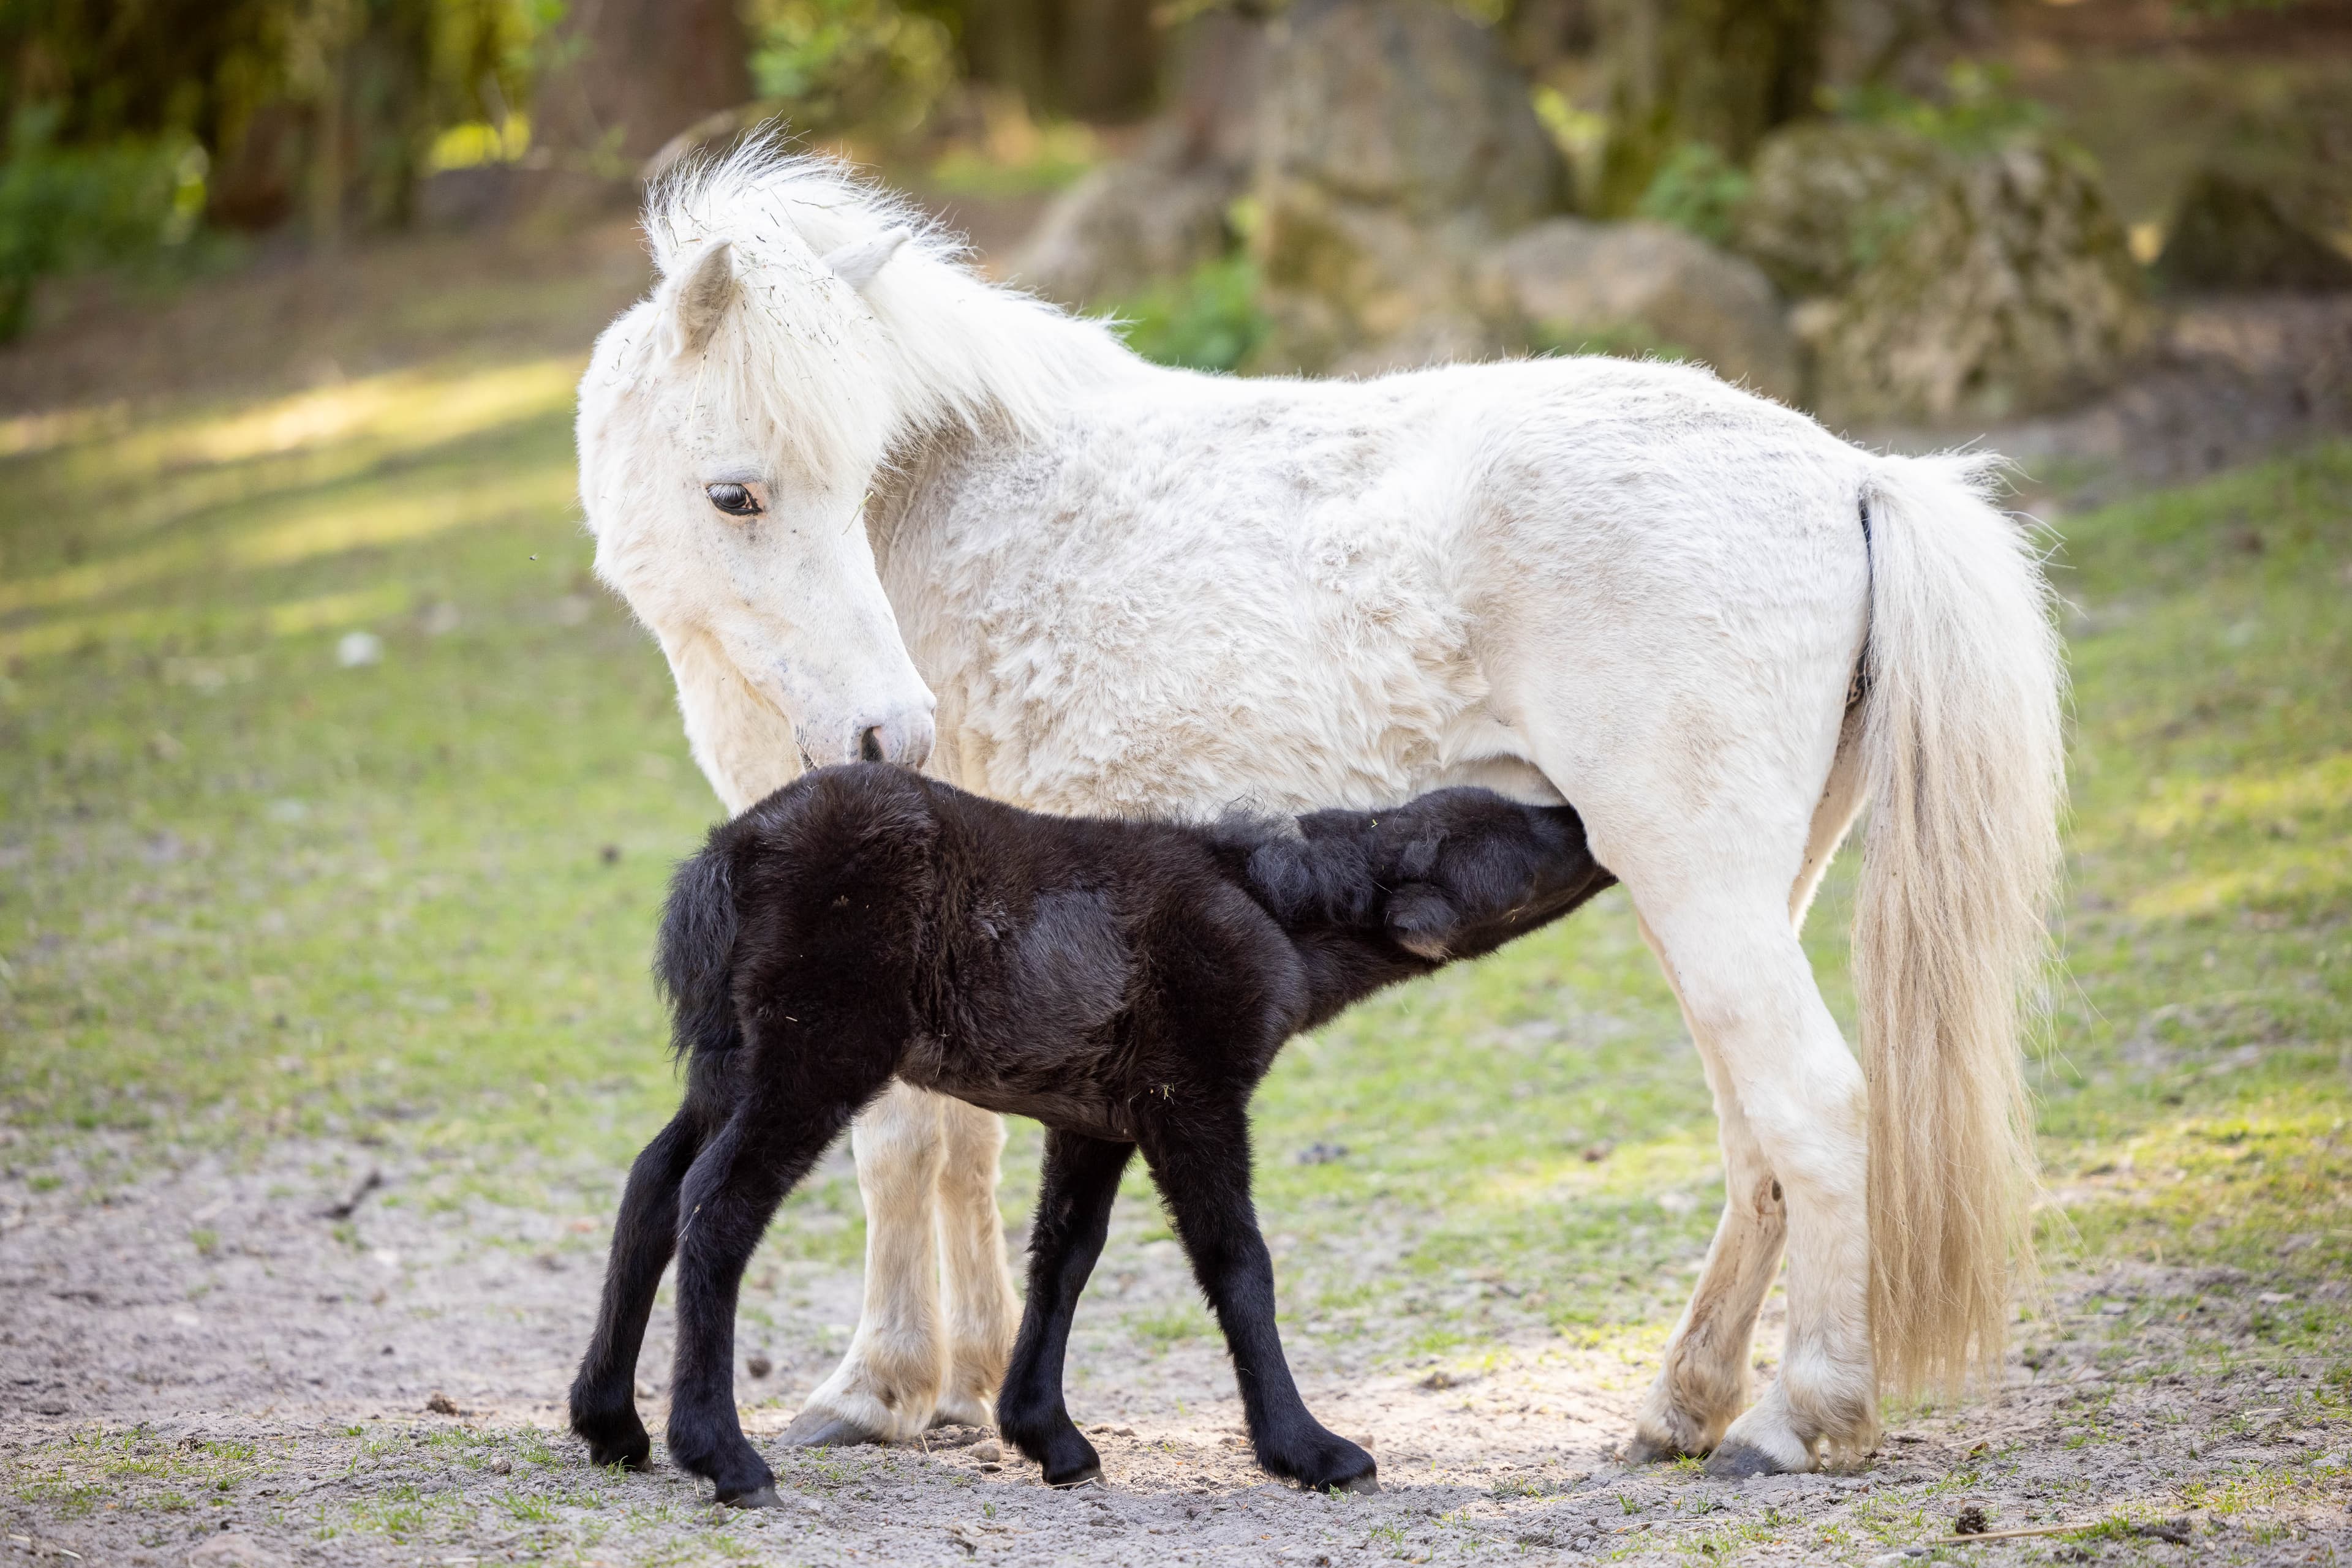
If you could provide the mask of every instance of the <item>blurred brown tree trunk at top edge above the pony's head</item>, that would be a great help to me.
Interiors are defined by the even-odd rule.
[[[734,0],[572,0],[550,54],[532,143],[609,179],[753,92]]]

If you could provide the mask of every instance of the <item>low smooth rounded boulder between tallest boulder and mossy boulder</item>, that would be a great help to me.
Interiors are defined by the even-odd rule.
[[[1538,341],[1653,346],[1766,397],[1802,393],[1797,339],[1771,280],[1679,228],[1550,219],[1503,244],[1489,268]]]

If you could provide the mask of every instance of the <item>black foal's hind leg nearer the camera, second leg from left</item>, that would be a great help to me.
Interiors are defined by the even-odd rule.
[[[858,1086],[835,1095],[753,1093],[696,1154],[677,1190],[677,1371],[670,1458],[717,1486],[720,1502],[774,1507],[774,1472],[734,1406],[734,1316],[743,1265],[776,1204],[840,1135]],[[870,1093],[875,1086],[866,1084]]]

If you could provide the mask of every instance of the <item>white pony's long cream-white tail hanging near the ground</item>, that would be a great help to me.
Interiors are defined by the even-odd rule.
[[[2032,1274],[2020,1018],[2065,797],[2063,665],[2027,534],[1983,458],[1884,458],[1863,487],[1870,825],[1853,983],[1870,1081],[1870,1342],[1891,1392],[1999,1363]]]

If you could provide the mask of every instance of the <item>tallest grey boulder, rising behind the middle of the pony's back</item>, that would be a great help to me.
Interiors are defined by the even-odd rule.
[[[1275,24],[1258,115],[1263,367],[1503,346],[1477,259],[1566,202],[1566,165],[1486,28],[1439,0],[1301,0]]]

